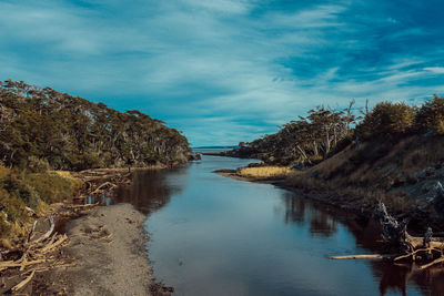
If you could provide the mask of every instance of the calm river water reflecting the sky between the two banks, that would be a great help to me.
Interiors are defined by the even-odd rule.
[[[139,173],[119,191],[118,201],[150,214],[154,275],[176,295],[444,295],[441,268],[329,259],[375,253],[371,226],[273,185],[212,173],[248,163],[203,156]]]

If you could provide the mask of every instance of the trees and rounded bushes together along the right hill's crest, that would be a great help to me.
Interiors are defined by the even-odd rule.
[[[353,142],[359,146],[363,141],[385,141],[415,133],[444,134],[443,98],[434,95],[422,106],[381,102],[373,110],[356,109],[354,101],[344,110],[321,105],[310,110],[306,116],[284,124],[274,134],[250,143],[241,142],[240,149],[228,154],[284,165],[311,165]]]

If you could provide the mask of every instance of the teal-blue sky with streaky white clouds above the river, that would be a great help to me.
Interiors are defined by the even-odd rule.
[[[124,111],[192,145],[252,141],[351,99],[444,95],[435,0],[0,0],[0,79]]]

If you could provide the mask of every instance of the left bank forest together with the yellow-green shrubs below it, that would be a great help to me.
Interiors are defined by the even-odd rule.
[[[0,82],[0,247],[26,238],[49,204],[82,186],[65,171],[173,165],[191,155],[180,132],[139,111],[122,113],[50,88]]]

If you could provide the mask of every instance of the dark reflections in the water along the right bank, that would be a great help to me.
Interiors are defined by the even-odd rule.
[[[282,196],[282,202],[286,224],[310,225],[312,234],[331,236],[337,232],[337,221],[342,221],[350,235],[355,237],[357,246],[369,253],[384,253],[377,222],[310,202],[291,192]],[[444,267],[438,265],[425,271],[417,269],[414,264],[387,262],[372,262],[370,266],[374,277],[380,280],[381,295],[390,292],[406,295],[408,285],[416,285],[424,295],[444,295]]]

